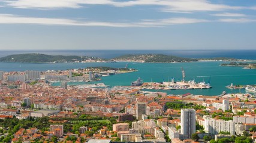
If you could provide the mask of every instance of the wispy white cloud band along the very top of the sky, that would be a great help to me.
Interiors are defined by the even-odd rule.
[[[89,5],[113,5],[115,7],[131,7],[134,5],[158,5],[161,11],[174,13],[189,13],[192,11],[222,11],[239,10],[244,7],[234,7],[224,4],[213,4],[207,0],[4,0],[7,5],[15,8],[80,8]]]

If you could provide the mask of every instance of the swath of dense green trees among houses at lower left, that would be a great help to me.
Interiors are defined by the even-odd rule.
[[[29,117],[28,119],[19,120],[16,117],[0,119],[0,129],[1,134],[7,133],[5,136],[1,136],[0,142],[10,142],[14,138],[14,133],[16,133],[20,128],[30,129],[37,128],[41,130],[42,133],[49,131],[49,127],[52,123],[49,122],[49,117],[33,118]],[[99,117],[99,116],[89,116],[82,114],[79,118],[51,118],[51,120],[60,121],[67,120],[65,123],[57,123],[64,125],[64,133],[73,132],[79,133],[79,128],[82,126],[87,126],[92,128],[91,131],[86,130],[85,134],[88,136],[94,135],[97,130],[101,129],[103,126],[106,126],[109,130],[112,130],[112,125],[116,123],[115,117]],[[128,121],[127,121],[128,122]],[[131,123],[129,123],[131,124]],[[67,140],[74,141],[76,138],[68,138]],[[53,136],[49,141],[56,141],[56,136]],[[34,140],[35,143],[42,142],[40,139]]]

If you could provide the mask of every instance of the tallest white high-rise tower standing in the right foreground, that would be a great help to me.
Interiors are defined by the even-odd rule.
[[[195,133],[195,110],[182,109],[180,118],[182,139],[191,138],[191,135]]]

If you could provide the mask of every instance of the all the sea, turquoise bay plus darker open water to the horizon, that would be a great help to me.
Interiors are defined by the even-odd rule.
[[[0,57],[10,54],[40,53],[50,55],[88,55],[91,57],[114,58],[124,54],[167,54],[186,58],[213,58],[230,57],[237,59],[256,60],[256,50],[61,50],[61,51],[0,51]],[[256,69],[243,69],[242,67],[220,66],[226,61],[198,61],[191,63],[0,63],[0,71],[25,71],[25,70],[68,70],[85,67],[107,66],[125,67],[136,69],[132,73],[116,74],[114,76],[102,77],[99,82],[105,85],[129,86],[138,77],[144,82],[167,82],[174,78],[176,81],[182,80],[182,68],[185,71],[185,80],[195,80],[196,82],[210,83],[211,89],[184,89],[184,90],[157,90],[167,92],[167,94],[187,94],[194,95],[220,95],[223,91],[236,94],[245,93],[244,89],[227,89],[230,85],[255,85]],[[96,82],[98,83],[98,82]],[[81,83],[72,83],[81,84]],[[58,85],[58,83],[56,83]],[[156,90],[149,90],[156,91]]]

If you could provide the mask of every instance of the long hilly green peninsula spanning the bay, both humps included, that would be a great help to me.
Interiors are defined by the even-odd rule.
[[[141,62],[141,63],[176,63],[192,61],[243,61],[235,58],[183,58],[164,54],[128,54],[113,59],[77,55],[15,54],[0,58],[0,62],[16,63],[89,63],[89,62]]]

